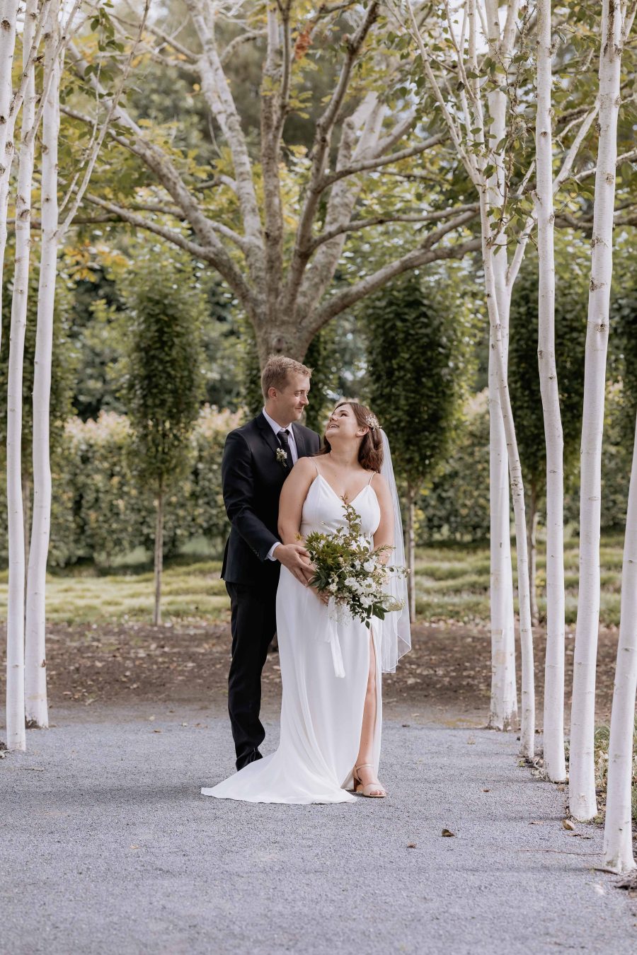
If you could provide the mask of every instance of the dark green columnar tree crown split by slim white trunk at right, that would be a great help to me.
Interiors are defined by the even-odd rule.
[[[579,462],[584,404],[588,256],[582,244],[556,243],[555,353],[560,387],[564,474]],[[538,370],[538,259],[527,249],[513,289],[509,329],[509,392],[528,491],[544,493],[546,444]]]

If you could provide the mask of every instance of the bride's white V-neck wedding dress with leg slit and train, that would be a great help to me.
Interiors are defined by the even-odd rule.
[[[372,475],[373,477],[373,475]],[[372,546],[380,522],[370,483],[352,501]],[[343,504],[318,473],[303,505],[301,534],[334,531],[345,523]],[[277,635],[283,698],[276,753],[248,763],[204,796],[247,802],[353,802],[352,769],[360,745],[370,670],[370,630],[359,621],[336,623],[309,587],[281,567]],[[376,669],[376,722],[372,760],[380,757],[380,648],[372,627]],[[345,672],[344,676],[336,673]],[[376,775],[377,778],[377,775]]]

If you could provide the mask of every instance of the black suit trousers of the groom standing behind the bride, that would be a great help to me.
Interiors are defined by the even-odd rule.
[[[261,673],[276,631],[276,583],[231,584],[232,660],[228,673],[228,712],[237,753],[237,769],[260,759],[265,730],[259,719]]]

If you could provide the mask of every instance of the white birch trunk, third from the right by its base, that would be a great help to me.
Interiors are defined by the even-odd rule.
[[[546,442],[546,656],[543,759],[553,782],[566,778],[564,756],[564,535],[563,431],[555,361],[555,253],[551,127],[551,3],[538,2],[538,113],[536,212],[538,221],[538,366]]]

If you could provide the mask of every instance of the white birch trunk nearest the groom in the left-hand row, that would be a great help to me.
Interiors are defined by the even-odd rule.
[[[33,508],[27,576],[25,712],[34,727],[49,725],[45,647],[45,587],[51,529],[49,412],[53,358],[53,308],[57,272],[57,141],[59,0],[53,2],[45,36],[45,79],[51,76],[42,113],[42,239],[33,379]]]

